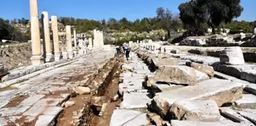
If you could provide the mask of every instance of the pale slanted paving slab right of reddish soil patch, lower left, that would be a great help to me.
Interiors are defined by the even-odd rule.
[[[24,101],[21,102],[19,106],[32,106],[34,103],[39,101],[40,99],[43,98],[45,95],[33,95],[28,97],[27,99],[24,99]]]

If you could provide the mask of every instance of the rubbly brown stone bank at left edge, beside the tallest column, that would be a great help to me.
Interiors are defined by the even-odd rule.
[[[31,43],[19,43],[0,49],[2,65],[9,70],[30,65]]]

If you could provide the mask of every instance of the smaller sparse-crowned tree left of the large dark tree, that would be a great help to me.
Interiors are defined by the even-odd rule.
[[[167,30],[168,37],[171,36],[171,30],[178,30],[179,27],[179,19],[177,16],[174,16],[168,8],[157,8],[156,10],[156,19],[160,23],[162,29]]]

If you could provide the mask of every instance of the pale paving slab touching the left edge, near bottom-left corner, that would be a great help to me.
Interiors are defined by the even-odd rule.
[[[21,115],[24,112],[26,112],[27,109],[30,109],[30,106],[2,108],[2,109],[0,109],[0,115],[1,116]]]

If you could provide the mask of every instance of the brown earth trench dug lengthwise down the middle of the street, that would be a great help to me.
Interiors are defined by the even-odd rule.
[[[107,118],[108,114],[111,114],[116,105],[118,105],[118,101],[114,102],[111,99],[114,99],[118,91],[120,62],[117,58],[111,58],[100,70],[88,75],[87,87],[91,89],[91,93],[89,95],[71,97],[69,100],[75,102],[75,105],[64,108],[62,114],[57,119],[56,125],[94,126],[109,124],[110,118]],[[95,99],[98,99],[100,103],[95,102]],[[107,106],[103,107],[102,104]],[[101,114],[101,108],[104,108],[103,114]]]

